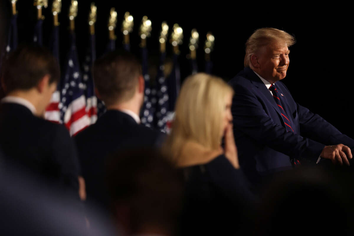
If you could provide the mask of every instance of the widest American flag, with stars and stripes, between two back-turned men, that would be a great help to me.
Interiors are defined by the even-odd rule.
[[[69,45],[68,59],[65,65],[66,70],[62,79],[59,108],[61,109],[64,125],[68,128],[70,135],[75,135],[89,126],[91,120],[86,113],[85,85],[81,80],[74,32],[69,35]]]

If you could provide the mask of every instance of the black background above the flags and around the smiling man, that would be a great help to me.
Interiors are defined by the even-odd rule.
[[[61,61],[66,58],[68,49],[68,0],[63,0],[62,12],[59,14]],[[76,17],[76,36],[79,57],[85,55],[88,43],[89,27],[87,24],[91,1],[79,0]],[[352,88],[353,77],[351,58],[352,16],[349,8],[343,6],[301,5],[297,2],[283,4],[269,2],[269,5],[257,3],[239,4],[238,2],[213,1],[200,3],[192,1],[95,1],[97,6],[96,47],[99,57],[108,42],[107,22],[110,7],[118,13],[116,48],[121,48],[121,21],[124,13],[129,11],[134,17],[134,31],[130,35],[131,51],[139,56],[138,27],[144,15],[152,21],[152,37],[147,45],[149,55],[159,54],[158,37],[161,22],[167,21],[172,28],[178,23],[183,28],[184,43],[181,50],[182,79],[190,73],[186,54],[192,28],[200,35],[200,47],[197,51],[199,71],[204,70],[204,41],[207,31],[215,35],[215,50],[212,52],[213,74],[231,79],[243,68],[244,44],[257,28],[275,27],[293,34],[297,40],[290,48],[290,67],[283,80],[294,99],[320,114],[341,132],[354,138],[352,128]],[[8,11],[10,1],[7,1]],[[254,10],[256,8],[256,10]],[[32,41],[33,27],[36,22],[36,8],[32,0],[17,2],[19,41]],[[46,17],[44,27],[44,44],[48,45],[52,30],[51,1],[43,10]],[[169,31],[170,32],[170,31]],[[167,53],[172,55],[169,44]],[[151,65],[157,67],[157,64]]]

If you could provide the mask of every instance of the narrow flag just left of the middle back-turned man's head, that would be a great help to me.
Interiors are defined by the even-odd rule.
[[[96,60],[95,34],[90,34],[89,47],[83,64],[84,73],[82,76],[86,96],[86,113],[90,117],[91,124],[97,120],[97,98],[92,77],[92,65]]]

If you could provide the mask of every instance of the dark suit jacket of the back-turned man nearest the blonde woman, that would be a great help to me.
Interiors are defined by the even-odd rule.
[[[95,124],[79,132],[74,140],[86,181],[87,201],[102,207],[108,203],[104,186],[107,155],[119,149],[158,147],[164,137],[164,133],[139,125],[130,115],[118,110],[108,110]]]

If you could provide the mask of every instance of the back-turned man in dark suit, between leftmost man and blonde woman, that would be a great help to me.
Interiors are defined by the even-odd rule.
[[[96,95],[107,112],[75,136],[87,200],[107,203],[104,188],[105,157],[116,149],[153,147],[161,142],[160,132],[140,124],[144,99],[141,65],[128,52],[110,52],[93,65]],[[138,163],[137,163],[138,165]]]

